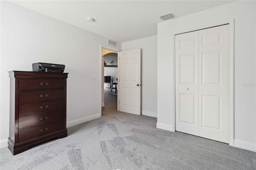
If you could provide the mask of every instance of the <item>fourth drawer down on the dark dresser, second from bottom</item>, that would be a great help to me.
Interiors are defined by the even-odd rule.
[[[19,118],[19,129],[64,119],[64,110]]]

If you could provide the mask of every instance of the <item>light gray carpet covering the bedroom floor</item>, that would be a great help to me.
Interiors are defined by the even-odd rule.
[[[156,118],[116,112],[68,128],[68,137],[12,155],[1,170],[255,170],[256,152],[156,128]]]

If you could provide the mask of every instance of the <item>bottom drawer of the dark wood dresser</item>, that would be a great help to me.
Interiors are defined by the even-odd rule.
[[[46,125],[41,125],[38,127],[28,128],[25,130],[20,130],[18,135],[18,141],[23,142],[25,140],[50,134],[52,132],[56,132],[62,129],[64,129],[64,120],[54,122],[54,123],[49,123]]]

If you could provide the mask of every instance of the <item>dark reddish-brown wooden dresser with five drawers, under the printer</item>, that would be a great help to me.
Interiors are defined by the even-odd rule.
[[[68,73],[9,71],[12,154],[51,138],[64,138]]]

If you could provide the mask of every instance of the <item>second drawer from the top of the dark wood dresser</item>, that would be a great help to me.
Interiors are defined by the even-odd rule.
[[[64,89],[19,92],[19,103],[64,99]]]

